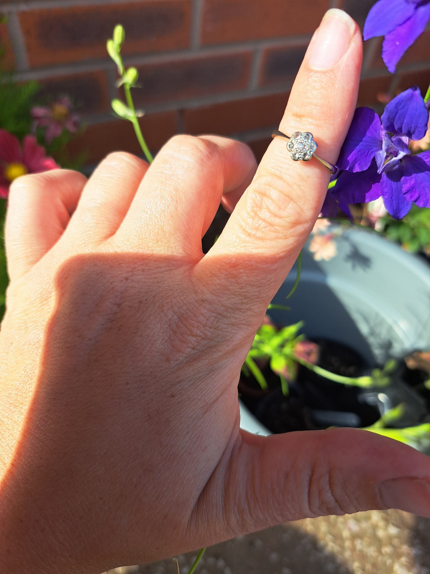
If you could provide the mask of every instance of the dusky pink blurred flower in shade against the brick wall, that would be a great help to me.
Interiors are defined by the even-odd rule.
[[[59,137],[64,129],[72,134],[76,133],[80,125],[79,114],[73,111],[72,102],[67,96],[59,98],[49,107],[35,106],[32,109],[33,130],[37,127],[46,127],[45,139],[50,144]]]

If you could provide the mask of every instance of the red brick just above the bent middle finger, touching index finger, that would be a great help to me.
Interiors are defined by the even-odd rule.
[[[185,110],[185,131],[190,134],[229,135],[279,125],[288,95],[284,92]]]

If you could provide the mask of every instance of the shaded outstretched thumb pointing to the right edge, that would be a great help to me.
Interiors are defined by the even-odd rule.
[[[199,505],[216,525],[214,541],[364,510],[397,508],[430,517],[430,459],[367,430],[270,437],[241,430]]]

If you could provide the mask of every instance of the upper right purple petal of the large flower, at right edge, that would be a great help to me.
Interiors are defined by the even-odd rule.
[[[381,120],[385,131],[411,139],[423,139],[427,133],[428,111],[420,88],[409,88],[391,100]]]

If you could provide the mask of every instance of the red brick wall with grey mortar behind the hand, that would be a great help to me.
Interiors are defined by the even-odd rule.
[[[136,104],[154,152],[175,133],[212,132],[249,142],[260,157],[283,113],[307,44],[325,10],[343,7],[360,24],[375,0],[0,0],[6,61],[18,79],[70,94],[88,128],[73,144],[94,163],[114,149],[139,153],[132,127],[110,113],[118,96],[105,41],[126,28],[126,65],[140,72]],[[396,75],[379,39],[366,42],[359,105],[380,92],[430,80],[430,30]]]

